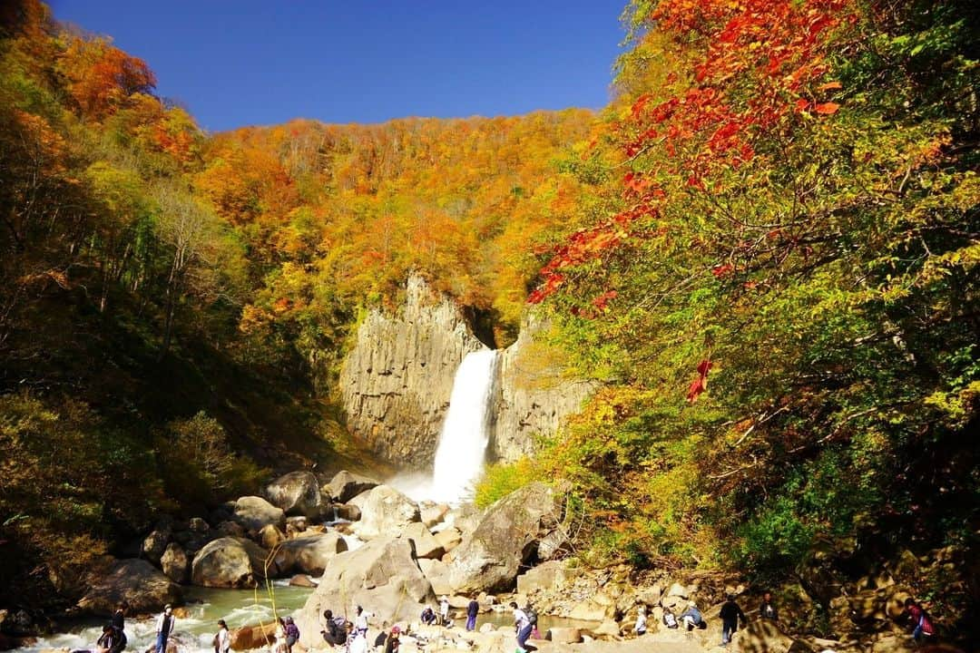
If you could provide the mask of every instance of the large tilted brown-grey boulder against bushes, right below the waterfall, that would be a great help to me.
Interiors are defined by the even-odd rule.
[[[560,528],[562,517],[561,497],[543,483],[494,503],[453,550],[450,582],[457,593],[513,589],[517,571],[536,556],[538,542]]]

